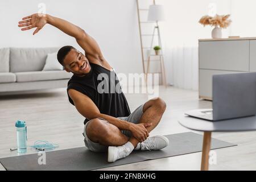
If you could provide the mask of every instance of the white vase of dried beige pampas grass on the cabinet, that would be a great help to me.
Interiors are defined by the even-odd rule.
[[[200,20],[199,23],[203,24],[204,26],[210,25],[214,26],[212,30],[212,38],[213,39],[218,39],[222,38],[222,32],[221,28],[227,28],[232,20],[228,20],[230,15],[215,15],[215,16],[208,16],[205,15],[203,16]]]

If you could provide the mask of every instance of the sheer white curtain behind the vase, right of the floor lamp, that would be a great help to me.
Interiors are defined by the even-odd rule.
[[[184,89],[198,89],[198,39],[211,38],[214,27],[202,26],[199,19],[216,4],[217,14],[230,14],[232,0],[158,0],[166,10],[166,21],[160,24],[167,81]],[[230,29],[224,29],[223,37]]]

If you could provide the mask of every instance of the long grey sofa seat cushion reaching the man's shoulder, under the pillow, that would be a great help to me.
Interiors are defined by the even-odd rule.
[[[15,73],[17,82],[42,81],[42,80],[60,80],[71,78],[73,73],[66,71],[37,71],[37,72],[19,72]]]

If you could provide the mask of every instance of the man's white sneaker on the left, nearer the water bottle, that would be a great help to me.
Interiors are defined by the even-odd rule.
[[[108,148],[108,162],[113,163],[115,160],[126,158],[131,153],[131,150],[129,147],[113,147],[109,146]]]

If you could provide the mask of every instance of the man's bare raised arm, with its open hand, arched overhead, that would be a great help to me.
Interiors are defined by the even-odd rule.
[[[22,18],[22,21],[19,21],[18,26],[24,27],[22,28],[22,31],[36,28],[33,32],[33,35],[35,35],[47,23],[59,28],[59,30],[63,31],[65,34],[75,38],[79,46],[81,46],[81,48],[86,52],[86,56],[88,56],[89,60],[104,60],[96,40],[86,34],[82,28],[68,22],[67,20],[56,18],[48,14],[32,14]]]

